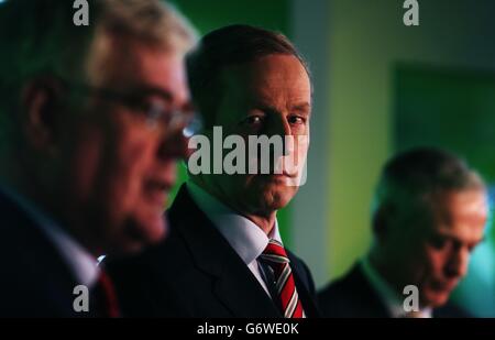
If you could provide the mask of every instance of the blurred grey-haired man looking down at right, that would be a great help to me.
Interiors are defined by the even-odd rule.
[[[384,167],[369,254],[319,294],[327,317],[465,317],[449,296],[483,240],[488,213],[480,175],[455,155],[415,149]],[[418,288],[417,310],[406,286]]]

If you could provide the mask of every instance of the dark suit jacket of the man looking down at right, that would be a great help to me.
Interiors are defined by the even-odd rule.
[[[389,318],[392,317],[363,274],[361,264],[355,264],[342,278],[331,283],[318,294],[323,317],[329,318]],[[433,318],[470,317],[448,303],[433,309]]]

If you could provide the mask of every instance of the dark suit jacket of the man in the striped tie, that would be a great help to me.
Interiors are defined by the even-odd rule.
[[[282,317],[237,252],[183,186],[169,210],[170,234],[136,257],[109,261],[127,316]],[[306,315],[317,315],[307,266],[288,253]]]

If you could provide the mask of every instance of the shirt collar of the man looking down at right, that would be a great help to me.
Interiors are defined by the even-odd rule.
[[[381,300],[385,304],[387,310],[394,318],[405,317],[404,298],[402,298],[394,288],[383,278],[382,275],[371,264],[369,256],[361,260],[364,276],[378,294]],[[431,318],[431,308],[424,308],[419,311],[421,317]]]

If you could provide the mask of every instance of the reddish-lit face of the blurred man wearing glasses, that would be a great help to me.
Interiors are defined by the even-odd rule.
[[[186,141],[182,129],[153,123],[145,113],[152,105],[170,112],[189,107],[185,68],[182,56],[139,43],[108,37],[96,45],[89,85],[131,100],[95,91],[67,124],[63,204],[75,224],[84,221],[79,237],[98,251],[132,252],[165,232],[165,201]]]

